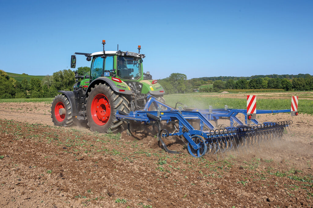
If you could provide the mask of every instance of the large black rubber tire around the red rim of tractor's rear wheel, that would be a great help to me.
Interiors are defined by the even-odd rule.
[[[109,104],[110,107],[110,114],[105,124],[99,125],[96,122],[98,121],[95,117],[96,115],[92,115],[91,106],[93,104],[93,100],[97,99],[96,96],[99,94],[105,95],[105,101]],[[95,104],[95,103],[94,103]],[[129,101],[123,94],[118,94],[113,91],[110,86],[106,84],[99,84],[95,85],[94,88],[91,88],[90,92],[88,93],[88,97],[86,98],[86,114],[88,119],[88,126],[90,127],[91,131],[96,131],[100,133],[108,133],[108,132],[121,132],[126,128],[126,122],[121,120],[116,120],[115,113],[117,110],[121,110],[125,113],[129,113],[130,109],[128,107]],[[93,106],[95,108],[95,106]],[[103,108],[106,112],[107,109]],[[94,112],[94,111],[93,111]],[[94,120],[95,119],[95,120]],[[109,130],[110,129],[110,130]]]

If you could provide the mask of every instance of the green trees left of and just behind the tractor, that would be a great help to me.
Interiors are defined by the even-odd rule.
[[[79,75],[84,75],[90,70],[89,67],[79,67]],[[17,81],[0,70],[0,99],[5,98],[51,98],[59,94],[58,90],[73,90],[75,74],[72,70],[60,70],[53,75],[45,76],[42,80],[25,78]]]

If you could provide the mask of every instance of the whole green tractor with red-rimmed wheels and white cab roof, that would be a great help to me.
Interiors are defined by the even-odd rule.
[[[163,87],[144,73],[144,54],[129,51],[103,51],[74,53],[91,61],[89,74],[78,75],[73,91],[59,91],[51,106],[51,118],[56,126],[70,126],[77,120],[87,120],[91,131],[101,133],[122,131],[125,122],[115,117],[117,110],[129,113],[143,110],[147,95],[165,102]],[[71,68],[76,66],[76,56],[71,56]],[[78,79],[82,79],[78,81]],[[156,110],[151,106],[149,110]]]

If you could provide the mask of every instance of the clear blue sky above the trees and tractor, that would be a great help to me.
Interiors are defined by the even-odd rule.
[[[313,74],[312,26],[313,1],[0,1],[0,69],[52,75],[105,39],[154,79]]]

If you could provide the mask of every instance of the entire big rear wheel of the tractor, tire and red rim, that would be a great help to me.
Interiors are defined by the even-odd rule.
[[[117,110],[129,113],[128,105],[126,97],[113,91],[110,86],[95,85],[88,93],[85,104],[90,130],[100,133],[123,131],[126,123],[116,120],[115,113]]]

